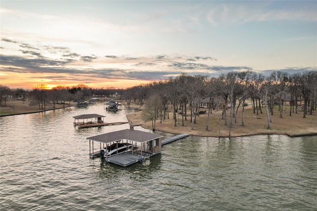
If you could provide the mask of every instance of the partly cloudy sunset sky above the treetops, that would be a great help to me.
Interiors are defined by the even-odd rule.
[[[317,1],[0,1],[0,83],[131,87],[317,70]]]

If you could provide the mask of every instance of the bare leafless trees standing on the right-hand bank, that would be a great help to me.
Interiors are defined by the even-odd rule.
[[[187,112],[190,112],[192,129],[196,123],[202,99],[209,99],[208,115],[216,102],[221,99],[222,114],[218,116],[224,119],[224,124],[229,124],[229,135],[233,121],[236,123],[238,109],[242,110],[241,126],[244,126],[244,107],[246,99],[251,99],[254,113],[265,112],[267,117],[267,129],[270,129],[273,106],[278,103],[280,118],[283,118],[283,102],[288,96],[290,102],[290,113],[297,113],[299,100],[303,99],[303,118],[307,114],[312,115],[316,110],[317,101],[317,71],[288,74],[274,71],[269,76],[253,71],[228,72],[217,78],[208,76],[179,75],[164,81],[153,82],[143,86],[136,86],[126,91],[134,93],[130,97],[138,99],[140,106],[146,100],[146,111],[144,118],[152,120],[153,129],[155,122],[168,116],[168,109],[173,109],[174,126],[176,127],[176,112],[180,110],[182,115],[182,126]],[[134,90],[134,91],[133,91]],[[129,100],[129,99],[127,99]],[[264,111],[262,111],[264,107]],[[187,111],[189,108],[189,111]],[[227,114],[229,112],[229,114]],[[229,118],[227,118],[229,116]],[[234,120],[233,120],[234,118]],[[228,123],[229,120],[229,123]],[[209,121],[209,116],[207,118]],[[206,129],[208,130],[209,122]],[[219,125],[220,126],[220,125]]]

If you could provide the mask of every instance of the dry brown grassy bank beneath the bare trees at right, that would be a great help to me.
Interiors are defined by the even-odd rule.
[[[244,123],[245,126],[241,126],[242,114],[238,111],[237,123],[232,124],[231,137],[237,136],[249,136],[259,134],[282,134],[288,136],[305,136],[305,135],[317,135],[317,117],[314,115],[307,115],[307,118],[303,118],[303,112],[297,114],[292,113],[289,116],[289,108],[286,108],[286,113],[283,113],[283,118],[279,117],[279,112],[274,111],[272,115],[271,129],[266,129],[267,120],[266,115],[256,115],[253,113],[252,107],[245,109]],[[227,115],[230,111],[227,112]],[[194,129],[191,129],[190,116],[187,116],[187,121],[184,121],[182,126],[182,117],[177,115],[177,126],[174,127],[174,121],[172,120],[172,113],[169,114],[169,120],[157,121],[156,130],[182,134],[188,133],[196,136],[205,137],[219,137],[219,124],[218,124],[219,112],[213,111],[209,119],[209,130],[206,130],[208,114],[201,114],[197,117],[197,124],[194,124]],[[135,112],[127,115],[129,123],[134,126],[142,126],[144,128],[152,129],[152,122],[144,122],[142,120],[142,111]],[[185,118],[184,118],[185,119]],[[220,123],[220,137],[229,137],[229,117],[227,117],[228,125],[224,125],[224,120]]]

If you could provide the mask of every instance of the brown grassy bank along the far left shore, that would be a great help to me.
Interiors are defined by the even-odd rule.
[[[29,106],[28,102],[8,100],[6,102],[6,106],[0,107],[0,116],[30,114],[30,113],[49,111],[49,110],[60,109],[65,107],[68,107],[68,104],[56,104],[55,108],[53,108],[53,105],[47,105],[46,109],[39,109],[38,106]]]

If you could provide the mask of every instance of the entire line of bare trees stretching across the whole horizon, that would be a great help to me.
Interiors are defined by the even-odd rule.
[[[251,99],[254,113],[259,114],[264,107],[267,117],[267,128],[270,129],[271,115],[273,114],[274,103],[279,104],[279,115],[283,118],[283,101],[286,96],[290,97],[291,109],[289,115],[297,113],[297,102],[303,99],[303,118],[307,114],[312,115],[316,110],[317,101],[317,71],[306,71],[303,73],[288,74],[274,71],[269,76],[253,71],[228,72],[213,78],[209,76],[190,76],[181,74],[177,77],[170,77],[165,80],[140,84],[137,86],[116,89],[91,88],[85,84],[78,84],[72,87],[56,86],[47,89],[45,84],[38,84],[32,90],[22,88],[10,89],[8,86],[0,85],[1,106],[6,103],[9,95],[23,95],[23,100],[28,98],[30,106],[38,106],[45,109],[47,105],[55,107],[57,103],[70,104],[73,100],[89,99],[91,97],[107,97],[117,93],[121,100],[126,101],[127,106],[131,103],[143,106],[145,103],[145,119],[153,121],[153,129],[157,120],[169,119],[169,110],[172,109],[174,126],[176,127],[176,113],[182,115],[182,126],[187,120],[187,113],[190,112],[192,129],[196,123],[201,101],[209,99],[208,115],[212,112],[215,104],[219,105],[221,100],[222,110],[220,119],[224,124],[229,124],[229,135],[233,121],[236,123],[238,109],[242,110],[241,126],[244,126],[245,100]],[[227,114],[229,112],[229,115]],[[147,114],[146,114],[147,113]],[[229,118],[227,117],[229,116]],[[209,118],[208,118],[209,119]],[[229,123],[228,123],[229,119]],[[208,122],[206,129],[208,130]]]

